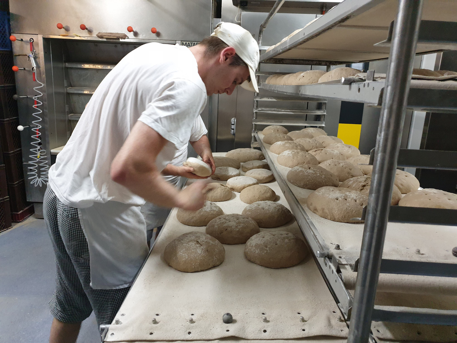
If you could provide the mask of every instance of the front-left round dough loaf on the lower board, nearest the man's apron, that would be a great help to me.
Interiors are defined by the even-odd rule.
[[[225,249],[217,239],[206,233],[191,231],[168,243],[164,258],[176,270],[192,273],[223,263]]]

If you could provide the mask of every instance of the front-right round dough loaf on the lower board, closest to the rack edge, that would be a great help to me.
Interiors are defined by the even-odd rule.
[[[244,256],[252,263],[268,268],[287,268],[302,262],[308,247],[287,231],[264,231],[252,236],[244,247]]]

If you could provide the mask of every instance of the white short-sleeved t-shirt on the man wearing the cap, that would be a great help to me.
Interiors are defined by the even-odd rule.
[[[161,171],[187,145],[207,101],[191,51],[148,43],[127,54],[91,97],[73,134],[49,169],[49,184],[76,208],[114,200],[142,205],[143,198],[110,177],[111,163],[137,120],[168,140],[157,156]]]

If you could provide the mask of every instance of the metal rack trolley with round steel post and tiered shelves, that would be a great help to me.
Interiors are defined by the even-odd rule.
[[[284,0],[277,0],[275,6],[260,27],[261,33],[271,17],[278,11]],[[326,84],[307,86],[278,86],[262,84],[266,90],[276,91],[289,96],[310,98],[338,99],[352,102],[364,102],[373,106],[382,105],[376,148],[372,151],[373,164],[372,186],[368,206],[364,212],[365,225],[361,243],[360,258],[353,264],[357,271],[354,300],[345,289],[337,274],[338,261],[325,246],[325,242],[316,230],[312,220],[298,203],[297,198],[274,166],[271,158],[255,133],[276,180],[280,184],[292,211],[296,215],[302,232],[313,249],[316,261],[333,291],[342,313],[351,320],[348,342],[367,342],[370,337],[371,320],[386,322],[405,322],[438,325],[457,325],[457,311],[444,311],[420,308],[401,308],[398,306],[375,306],[375,295],[379,273],[410,275],[429,275],[456,277],[455,263],[430,263],[383,259],[383,245],[388,221],[400,221],[425,224],[457,224],[457,210],[400,208],[391,207],[390,199],[397,166],[416,166],[432,169],[457,169],[457,153],[451,151],[400,150],[399,142],[404,124],[405,109],[455,113],[457,110],[457,91],[444,89],[436,84],[431,87],[417,85],[411,81],[415,54],[425,54],[446,49],[456,49],[455,34],[457,18],[445,15],[447,21],[439,21],[441,16],[434,16],[434,10],[443,6],[440,0],[345,0],[326,16],[314,21],[301,32],[292,36],[276,48],[260,56],[260,63],[278,64],[326,64],[338,65],[368,60],[389,58],[385,81],[375,80],[374,71],[369,72],[367,80],[341,80]],[[455,4],[447,3],[455,6]],[[434,8],[435,7],[435,8]],[[393,14],[395,20],[390,26],[357,25],[363,19],[370,18],[374,11]],[[452,12],[452,9],[450,10]],[[362,19],[359,15],[365,15]],[[422,18],[422,21],[421,21]],[[359,19],[357,21],[357,19]],[[426,20],[424,20],[426,19]],[[382,20],[386,20],[383,18]],[[440,28],[440,30],[438,30]],[[447,29],[446,29],[447,28]],[[454,28],[451,30],[451,28]],[[335,39],[332,30],[345,34],[347,30],[365,32],[365,41],[355,49],[316,48],[313,39],[321,41]],[[355,32],[355,31],[354,31]],[[335,33],[335,34],[336,34]],[[384,38],[380,39],[383,35]],[[383,40],[388,37],[387,40]],[[358,42],[360,43],[360,39]],[[319,43],[319,42],[318,42]],[[375,44],[378,43],[378,44]],[[344,45],[344,42],[341,43]],[[375,45],[373,47],[373,45]],[[387,49],[386,49],[387,47]],[[390,51],[389,48],[390,47]],[[323,56],[329,55],[330,60]],[[338,58],[340,56],[340,58]],[[452,81],[454,82],[454,81]],[[438,82],[439,83],[439,82]],[[411,91],[410,91],[411,87]],[[424,95],[427,96],[424,96]],[[257,107],[257,98],[255,101]],[[312,124],[311,124],[312,125]],[[317,126],[317,125],[313,125]],[[430,161],[425,161],[432,156]],[[420,214],[420,218],[418,215]]]

